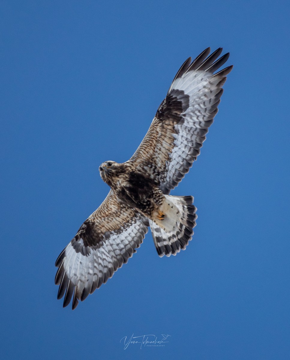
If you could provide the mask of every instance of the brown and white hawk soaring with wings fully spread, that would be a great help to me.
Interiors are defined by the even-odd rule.
[[[183,63],[133,156],[100,165],[110,192],[55,262],[64,307],[72,299],[75,309],[126,264],[148,226],[160,257],[176,255],[191,240],[197,217],[193,197],[169,193],[199,155],[232,70],[216,72],[229,53],[220,58],[222,48],[209,53],[207,48]]]

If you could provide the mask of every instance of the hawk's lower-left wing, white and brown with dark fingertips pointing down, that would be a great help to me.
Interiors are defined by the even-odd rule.
[[[122,204],[110,190],[100,207],[82,224],[55,262],[58,299],[72,309],[107,282],[136,252],[148,231],[148,219]]]

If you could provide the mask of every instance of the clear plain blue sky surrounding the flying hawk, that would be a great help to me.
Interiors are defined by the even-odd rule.
[[[3,359],[286,359],[289,3],[2,1]],[[75,311],[54,262],[126,161],[176,71],[211,46],[234,64],[198,161],[195,235],[159,258],[151,234]],[[162,348],[127,336],[170,335]]]

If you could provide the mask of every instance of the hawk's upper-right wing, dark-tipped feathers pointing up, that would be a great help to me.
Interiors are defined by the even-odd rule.
[[[215,61],[205,49],[193,62],[187,59],[177,72],[149,130],[129,160],[168,194],[189,171],[200,153],[205,134],[218,112],[226,75],[232,66],[214,74],[229,53]]]

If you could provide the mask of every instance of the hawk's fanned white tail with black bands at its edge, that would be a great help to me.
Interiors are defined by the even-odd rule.
[[[149,225],[156,250],[160,257],[176,255],[185,250],[196,225],[196,207],[192,196],[164,195],[159,217],[150,220]],[[162,219],[163,218],[163,219]]]

